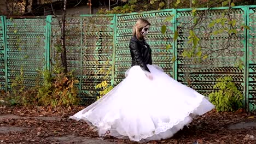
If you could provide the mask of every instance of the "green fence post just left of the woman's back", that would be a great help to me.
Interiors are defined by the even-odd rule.
[[[113,15],[113,30],[114,30],[114,35],[113,35],[113,53],[112,53],[112,73],[111,73],[111,85],[114,86],[114,77],[115,77],[115,48],[117,45],[117,14]]]

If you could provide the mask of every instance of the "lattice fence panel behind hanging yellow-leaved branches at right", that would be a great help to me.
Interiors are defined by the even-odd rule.
[[[203,10],[198,10],[197,14],[203,13]],[[177,27],[183,25],[185,28],[181,29],[177,40],[178,64],[177,75],[178,81],[194,88],[196,91],[208,95],[213,92],[213,86],[216,84],[219,77],[232,76],[236,82],[238,89],[245,93],[245,67],[238,68],[237,62],[245,62],[246,55],[246,29],[237,29],[237,38],[232,37],[229,49],[223,51],[214,50],[225,49],[228,44],[228,33],[221,33],[217,35],[210,35],[211,32],[222,29],[220,23],[213,28],[208,25],[212,20],[220,18],[222,9],[210,10],[203,17],[199,25],[194,25],[191,22],[191,10],[177,12]],[[236,26],[245,23],[245,10],[232,9],[230,10],[230,19],[236,20]],[[228,15],[225,15],[228,19]],[[199,18],[199,17],[197,17]],[[195,59],[184,58],[182,52],[190,49],[188,44],[189,28],[193,27],[195,33],[199,33],[199,46],[202,50],[202,56],[210,54],[207,60],[202,62],[195,62]]]

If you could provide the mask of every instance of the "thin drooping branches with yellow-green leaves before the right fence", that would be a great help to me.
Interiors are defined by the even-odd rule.
[[[177,4],[180,1],[176,1]],[[193,1],[194,3],[194,1]],[[216,19],[207,17],[206,15],[210,13],[211,8],[222,4],[223,6],[228,6],[226,10],[222,10]],[[223,0],[214,3],[206,10],[197,10],[193,8],[191,10],[191,17],[188,21],[178,21],[178,28],[173,34],[173,41],[179,41],[179,35],[188,33],[188,41],[185,42],[185,49],[180,56],[183,58],[189,58],[193,63],[203,64],[204,67],[209,67],[213,65],[218,57],[224,55],[232,55],[236,57],[235,66],[242,69],[243,62],[237,55],[237,52],[232,49],[232,41],[239,40],[238,33],[243,31],[243,29],[250,29],[245,23],[237,21],[231,13],[232,7],[235,3],[231,0]],[[166,18],[166,21],[171,21],[173,16]],[[203,26],[203,23],[208,23],[208,26]],[[167,29],[166,25],[161,27],[162,34],[165,34]],[[203,31],[203,33],[201,33]],[[211,41],[214,38],[218,38],[219,35],[223,35],[223,45],[219,47],[213,47]],[[224,40],[225,39],[225,40]],[[205,45],[205,43],[210,43],[210,45]],[[213,43],[213,42],[212,42]],[[166,49],[170,49],[172,45],[167,45]],[[211,57],[211,58],[210,58]],[[209,59],[210,58],[210,59]],[[177,57],[172,58],[172,62],[177,61]],[[190,67],[193,69],[193,66]]]

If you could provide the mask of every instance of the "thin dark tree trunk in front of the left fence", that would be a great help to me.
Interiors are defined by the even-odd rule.
[[[68,72],[68,70],[67,70],[67,51],[66,51],[66,44],[65,44],[66,6],[67,6],[67,0],[64,1],[62,27],[61,27],[61,39],[62,39],[61,62],[62,62],[62,67],[64,68],[63,72],[65,74],[67,74],[67,72]]]

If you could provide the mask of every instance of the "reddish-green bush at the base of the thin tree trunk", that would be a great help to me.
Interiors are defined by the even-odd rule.
[[[60,73],[53,76],[49,70],[44,70],[42,75],[44,83],[39,86],[37,94],[39,105],[67,107],[78,104],[78,88],[75,85],[79,81],[72,73]]]

